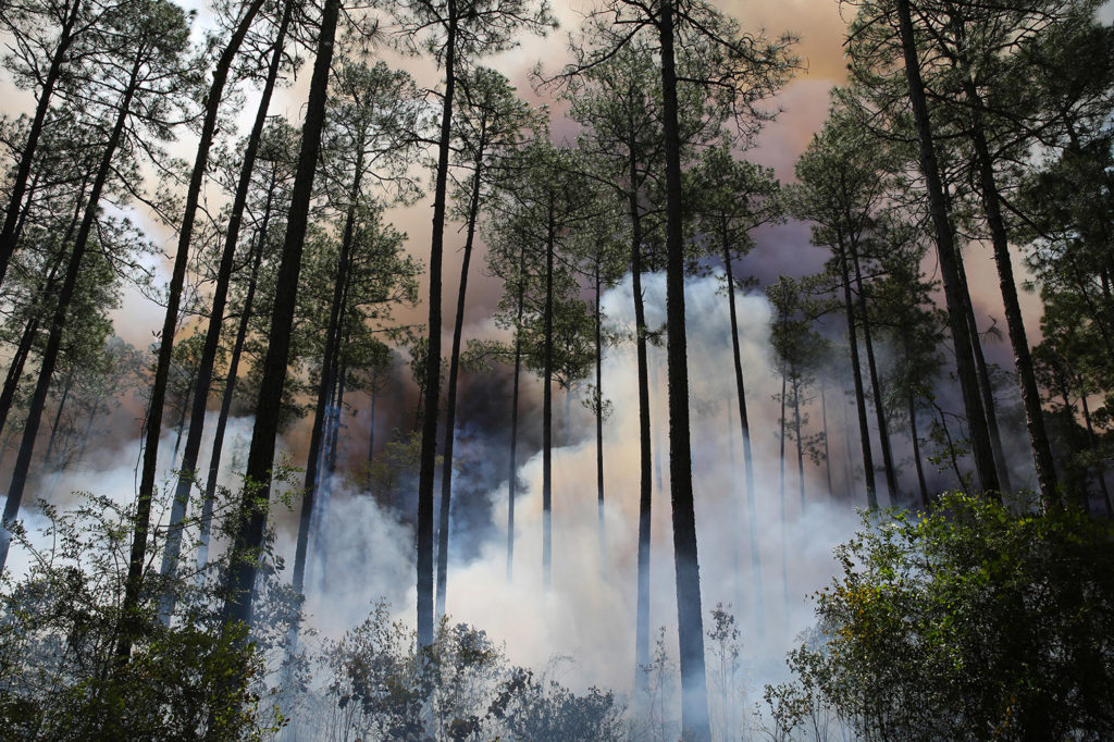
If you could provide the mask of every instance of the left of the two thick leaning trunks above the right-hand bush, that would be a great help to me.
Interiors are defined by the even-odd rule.
[[[964,397],[964,410],[967,412],[970,426],[971,453],[975,469],[978,473],[981,490],[991,498],[1000,499],[998,475],[994,463],[994,452],[986,426],[986,414],[983,400],[979,397],[975,368],[971,363],[971,338],[964,316],[962,297],[959,291],[959,275],[956,267],[956,247],[944,202],[944,191],[940,186],[940,173],[936,159],[936,145],[932,141],[931,123],[928,117],[928,105],[925,101],[925,85],[920,77],[920,62],[917,59],[917,46],[913,37],[912,16],[909,0],[896,0],[898,21],[901,35],[901,48],[905,53],[906,79],[909,82],[909,100],[912,105],[913,120],[917,127],[917,139],[920,144],[921,170],[928,189],[928,201],[932,215],[932,226],[936,231],[936,247],[940,260],[940,275],[944,279],[944,294],[948,309],[948,325],[951,329],[951,341],[956,349],[956,371]]]

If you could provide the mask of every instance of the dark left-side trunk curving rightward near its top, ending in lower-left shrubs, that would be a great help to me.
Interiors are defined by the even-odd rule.
[[[163,320],[163,333],[158,348],[158,362],[155,367],[155,382],[150,390],[150,408],[147,413],[147,441],[144,448],[143,475],[139,478],[139,498],[136,504],[131,554],[128,559],[128,579],[125,584],[124,602],[120,607],[124,615],[124,631],[120,633],[119,643],[116,647],[116,656],[121,662],[127,662],[128,656],[131,654],[131,642],[135,638],[135,629],[137,628],[137,623],[131,614],[139,606],[143,569],[147,559],[147,531],[150,529],[152,501],[155,498],[155,478],[158,473],[158,439],[163,429],[163,404],[166,399],[167,377],[169,375],[174,351],[174,332],[178,325],[182,287],[185,283],[186,267],[189,263],[189,242],[194,234],[197,202],[201,196],[202,184],[205,180],[205,172],[208,168],[209,148],[213,146],[213,138],[216,134],[217,114],[221,108],[221,99],[224,96],[224,87],[228,80],[228,72],[232,69],[232,62],[236,53],[240,51],[240,45],[243,42],[244,37],[247,36],[252,21],[262,7],[263,0],[251,0],[251,3],[244,3],[244,14],[241,17],[232,38],[228,39],[227,46],[221,52],[221,58],[213,70],[213,84],[209,86],[205,98],[205,118],[202,123],[201,137],[197,141],[194,169],[189,177],[189,186],[186,189],[186,211],[182,216],[182,228],[178,232],[178,251],[174,258],[174,271],[170,275],[170,289],[166,301],[166,316]],[[198,393],[198,397],[205,398],[207,394],[208,384]],[[199,404],[202,409],[201,424],[204,424],[205,400],[199,400]],[[196,453],[194,458],[196,461]],[[187,484],[187,500],[188,494],[189,487]],[[179,505],[179,499],[176,492],[175,507],[182,508],[182,516],[178,519],[180,523],[182,517],[185,515],[185,502],[183,501]],[[180,539],[180,534],[178,534],[177,538]]]

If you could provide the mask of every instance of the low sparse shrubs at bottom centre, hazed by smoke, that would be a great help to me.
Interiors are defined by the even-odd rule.
[[[482,631],[442,621],[429,646],[418,650],[414,638],[378,603],[326,644],[319,658],[329,673],[324,697],[307,699],[307,716],[316,717],[300,721],[340,740],[625,739],[613,693],[593,687],[577,695],[535,678],[510,666]]]

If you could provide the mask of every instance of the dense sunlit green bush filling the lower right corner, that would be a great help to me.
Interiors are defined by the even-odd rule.
[[[795,704],[783,731],[827,704],[869,739],[1114,734],[1108,524],[959,494],[868,518],[815,597],[823,638],[791,653],[792,689],[768,689]]]

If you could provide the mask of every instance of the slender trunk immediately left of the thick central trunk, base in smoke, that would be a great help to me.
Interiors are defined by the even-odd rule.
[[[649,429],[649,362],[646,349],[646,306],[642,292],[642,215],[638,193],[634,189],[637,169],[634,147],[629,150],[632,191],[631,209],[631,286],[634,294],[635,353],[638,365],[638,554],[637,599],[635,607],[634,689],[638,697],[648,691],[645,668],[649,666],[649,545],[653,512],[653,472]]]

